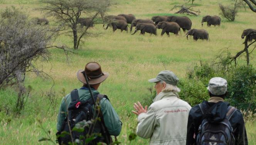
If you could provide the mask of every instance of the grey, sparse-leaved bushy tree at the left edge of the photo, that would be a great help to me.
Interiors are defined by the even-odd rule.
[[[33,65],[39,58],[49,60],[47,48],[56,36],[48,26],[34,25],[15,7],[6,8],[0,17],[0,88],[17,85],[17,112],[23,109],[32,87],[24,87],[27,71],[40,71]]]

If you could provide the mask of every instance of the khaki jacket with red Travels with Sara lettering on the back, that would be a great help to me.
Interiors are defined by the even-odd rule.
[[[191,106],[173,92],[160,92],[138,115],[137,135],[150,138],[150,145],[185,145]]]

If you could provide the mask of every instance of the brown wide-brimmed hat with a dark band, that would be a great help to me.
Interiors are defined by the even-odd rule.
[[[99,83],[105,81],[105,79],[109,75],[108,73],[101,71],[101,66],[98,63],[90,62],[85,65],[84,70],[79,70],[79,71],[77,71],[77,74],[76,74],[77,79],[79,81],[83,82],[84,84],[87,84],[87,83],[86,83],[83,71],[85,72],[86,76],[88,77],[88,82],[90,85],[99,84]]]

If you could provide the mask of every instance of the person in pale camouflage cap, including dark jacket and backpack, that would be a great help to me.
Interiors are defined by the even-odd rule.
[[[248,145],[243,115],[224,102],[227,95],[226,79],[213,77],[207,89],[209,101],[195,105],[189,112],[186,145],[219,145],[221,142]]]

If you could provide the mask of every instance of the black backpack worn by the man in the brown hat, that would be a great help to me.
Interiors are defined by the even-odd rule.
[[[98,101],[98,104],[99,104],[99,101],[103,97],[108,99],[106,95],[97,94],[94,96],[94,100]],[[69,134],[61,135],[62,132],[69,133],[69,126],[68,126],[67,120],[69,120],[69,125],[72,130],[78,122],[81,122],[83,120],[88,121],[93,119],[94,112],[92,110],[92,105],[93,105],[93,100],[91,97],[88,100],[80,101],[77,89],[74,89],[73,91],[71,91],[71,103],[69,104],[67,109],[69,112],[69,118],[66,117],[66,119],[62,122],[61,131],[57,132],[56,134],[57,141],[60,145],[63,145],[63,144],[68,145],[68,143],[72,141],[71,135]],[[99,123],[100,122],[96,122],[96,125]],[[93,130],[89,132],[89,127],[85,127],[83,132],[72,131],[73,141],[75,141],[76,139],[79,139],[80,141],[82,140],[84,142],[86,139],[86,135],[92,132]],[[81,139],[80,136],[83,136],[84,138]],[[96,145],[98,142],[104,142],[104,138],[98,136],[93,141],[89,142],[89,145],[94,145],[94,144]]]

